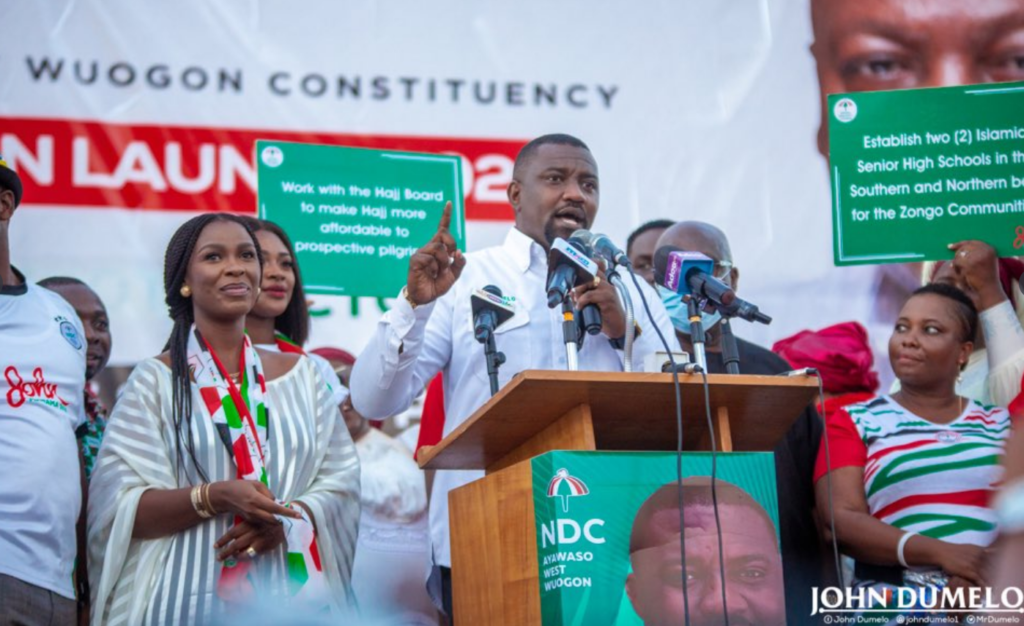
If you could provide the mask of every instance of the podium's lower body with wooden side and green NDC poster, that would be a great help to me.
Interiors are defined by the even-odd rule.
[[[721,454],[717,473],[730,594],[742,585],[748,603],[756,604],[757,623],[783,625],[772,454]],[[700,622],[701,612],[716,607],[721,615],[710,474],[710,454],[683,456],[687,595],[694,623]],[[481,498],[494,491],[488,482],[500,497]],[[683,623],[683,533],[676,485],[672,453],[551,452],[454,491],[459,619],[544,626]],[[474,502],[487,508],[489,518],[466,516]],[[531,520],[524,521],[524,510],[531,512]],[[487,536],[482,542],[481,532]],[[524,536],[532,543],[529,549],[523,548]],[[524,556],[532,562],[523,564]],[[517,615],[510,621],[512,608]]]

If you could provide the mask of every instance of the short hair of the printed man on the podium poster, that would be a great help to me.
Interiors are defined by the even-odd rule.
[[[764,520],[769,535],[776,542],[775,525],[768,516],[768,511],[751,497],[745,491],[732,483],[722,479],[715,481],[715,492],[718,505],[745,506],[755,511]],[[692,507],[708,507],[715,505],[711,489],[711,477],[691,476],[683,481],[683,509]],[[679,519],[679,484],[663,485],[648,497],[633,518],[633,531],[630,533],[630,554],[637,550],[653,548],[669,543],[683,536]]]

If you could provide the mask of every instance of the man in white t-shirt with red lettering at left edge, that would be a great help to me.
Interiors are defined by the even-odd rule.
[[[0,158],[0,626],[72,624],[86,346],[75,309],[10,264],[20,201]]]

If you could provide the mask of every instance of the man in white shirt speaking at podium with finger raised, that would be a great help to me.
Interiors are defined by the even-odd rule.
[[[483,346],[473,336],[471,294],[496,286],[514,316],[495,332],[495,341],[507,361],[500,371],[504,386],[513,375],[528,369],[564,370],[562,314],[547,302],[548,251],[556,238],[568,239],[579,228],[590,228],[597,216],[597,164],[580,139],[551,134],[534,139],[516,157],[509,203],[515,227],[505,243],[463,255],[449,233],[451,206],[440,225],[409,263],[409,279],[394,307],[386,312],[352,370],[352,403],[370,418],[406,410],[437,372],[444,379],[444,434],[464,422],[490,397]],[[643,314],[640,297],[626,280],[639,333],[633,345],[633,368],[662,347],[657,333]],[[679,349],[665,307],[643,284],[644,295],[662,333]],[[618,340],[626,334],[626,315],[604,273],[575,288],[578,309],[595,304],[601,312],[601,332],[586,337],[579,352],[580,369],[623,370]],[[639,419],[639,416],[637,416]],[[452,615],[449,491],[483,476],[482,471],[438,471],[430,500],[430,535],[434,571],[430,590],[437,594],[440,578],[444,612]]]

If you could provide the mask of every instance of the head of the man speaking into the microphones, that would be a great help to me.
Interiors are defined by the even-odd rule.
[[[589,228],[598,200],[597,163],[590,151],[574,145],[539,147],[509,185],[516,226],[545,248]]]

